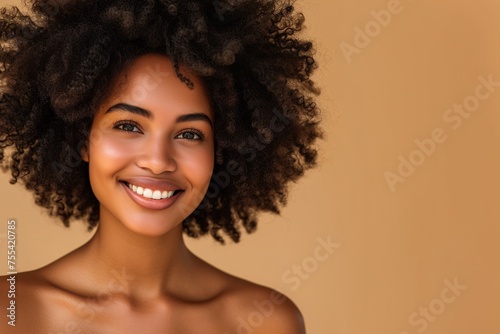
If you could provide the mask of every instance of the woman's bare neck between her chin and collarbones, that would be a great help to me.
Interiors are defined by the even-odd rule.
[[[82,251],[101,285],[113,285],[134,299],[156,298],[174,290],[176,278],[194,257],[184,244],[181,224],[161,236],[145,236],[102,219]]]

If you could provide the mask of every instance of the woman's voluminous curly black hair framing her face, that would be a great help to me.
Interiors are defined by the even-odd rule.
[[[183,222],[191,237],[238,242],[278,214],[290,181],[315,166],[319,90],[312,42],[293,1],[28,0],[0,9],[0,161],[64,225],[92,229],[99,203],[80,157],[113,79],[138,56],[200,76],[215,115],[215,166]]]

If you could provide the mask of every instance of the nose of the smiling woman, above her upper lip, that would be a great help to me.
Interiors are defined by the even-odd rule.
[[[168,141],[151,138],[141,151],[136,159],[137,166],[140,168],[153,174],[173,172],[177,169],[175,152]]]

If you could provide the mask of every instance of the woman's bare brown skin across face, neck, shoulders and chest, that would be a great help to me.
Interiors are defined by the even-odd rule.
[[[118,78],[82,150],[101,204],[99,227],[79,249],[17,275],[16,327],[4,315],[1,333],[305,333],[286,297],[214,268],[184,244],[181,221],[202,200],[214,156],[208,98],[190,78],[193,90],[158,55],[138,58]],[[108,111],[118,103],[151,115]],[[179,121],[193,113],[196,119]],[[123,181],[183,191],[141,202]],[[4,312],[8,290],[3,277]]]

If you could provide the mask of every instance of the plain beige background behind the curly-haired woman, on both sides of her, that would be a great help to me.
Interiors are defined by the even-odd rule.
[[[207,238],[189,245],[290,296],[309,333],[500,332],[500,87],[456,129],[443,119],[454,104],[474,102],[478,77],[500,81],[500,1],[395,4],[303,2],[321,64],[328,133],[321,167],[293,187],[282,217],[263,216],[240,244]],[[381,27],[371,11],[387,8],[399,13]],[[346,57],[341,46],[355,45],[356,27],[372,29],[372,37]],[[438,128],[446,140],[391,191],[384,173],[397,173],[400,155],[418,158],[415,141]],[[5,175],[0,184],[0,254],[6,221],[16,218],[19,270],[89,238],[82,226],[66,230],[49,219]],[[328,237],[340,246],[318,262],[318,238]],[[294,265],[310,273],[292,284]],[[462,290],[444,290],[446,280]],[[426,309],[427,319],[419,315]]]

